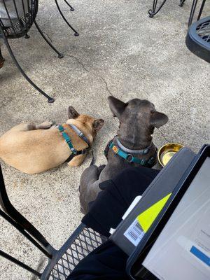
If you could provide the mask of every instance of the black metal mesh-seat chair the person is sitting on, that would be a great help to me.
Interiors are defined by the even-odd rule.
[[[24,262],[13,258],[8,253],[0,249],[0,255],[7,260],[19,265],[23,269],[38,276],[41,280],[64,280],[71,274],[74,267],[78,265],[80,260],[83,260],[86,255],[91,253],[95,248],[100,246],[106,237],[102,237],[98,232],[87,228],[81,223],[73,232],[65,244],[56,250],[49,244],[49,242],[41,235],[40,232],[27,221],[27,219],[18,212],[13,204],[11,204],[6,193],[5,184],[3,181],[3,174],[0,166],[0,216],[4,218],[10,225],[13,225],[23,236],[25,236],[36,248],[38,248],[47,258],[48,265],[43,272],[29,267]]]

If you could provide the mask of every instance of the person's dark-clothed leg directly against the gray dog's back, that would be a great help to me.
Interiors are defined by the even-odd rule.
[[[109,237],[110,228],[118,226],[134,198],[144,193],[158,172],[146,167],[134,167],[125,169],[113,180],[101,183],[103,191],[92,203],[83,223]]]

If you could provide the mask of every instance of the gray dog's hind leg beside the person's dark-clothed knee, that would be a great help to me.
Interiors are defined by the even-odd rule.
[[[80,178],[80,205],[83,214],[88,211],[89,202],[94,201],[100,191],[99,169],[96,165],[87,167]]]

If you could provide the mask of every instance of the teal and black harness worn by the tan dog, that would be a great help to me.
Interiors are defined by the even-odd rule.
[[[75,125],[69,125],[69,126],[72,128],[73,131],[76,132],[78,137],[80,137],[81,139],[83,139],[83,141],[85,141],[85,143],[87,143],[88,148],[89,148],[90,142],[88,141],[87,137],[85,137],[83,132],[81,132]],[[68,144],[68,146],[71,150],[71,155],[69,156],[69,158],[67,158],[66,162],[70,162],[74,157],[76,157],[76,155],[85,155],[88,148],[85,148],[81,151],[77,151],[76,148],[73,147],[71,139],[70,139],[69,135],[66,133],[64,127],[62,125],[59,125],[58,129],[59,129],[60,134],[62,135],[62,137],[64,138],[64,140],[66,141],[66,143]]]

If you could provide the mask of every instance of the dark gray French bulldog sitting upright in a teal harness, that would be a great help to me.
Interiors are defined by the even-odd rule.
[[[113,179],[127,167],[153,167],[157,161],[157,148],[152,134],[155,127],[165,125],[168,117],[155,110],[148,100],[132,99],[127,103],[109,97],[109,107],[114,117],[120,121],[117,136],[106,148],[107,165],[91,165],[80,178],[80,205],[83,214],[88,211],[88,203],[96,199],[102,191],[99,183]]]

